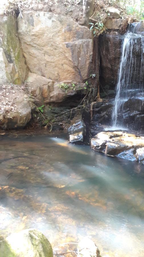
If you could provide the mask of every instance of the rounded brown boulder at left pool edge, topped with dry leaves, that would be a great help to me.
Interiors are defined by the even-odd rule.
[[[0,86],[0,128],[23,128],[31,119],[33,104],[24,87]]]

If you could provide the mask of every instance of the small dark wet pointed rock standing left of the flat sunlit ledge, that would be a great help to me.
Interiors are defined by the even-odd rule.
[[[69,141],[73,142],[87,142],[89,141],[89,123],[90,116],[87,111],[80,111],[76,117],[71,121],[71,126],[67,129]]]

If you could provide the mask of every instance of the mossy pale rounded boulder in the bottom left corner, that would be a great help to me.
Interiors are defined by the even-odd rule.
[[[0,242],[1,257],[53,257],[48,239],[36,229],[13,233]]]

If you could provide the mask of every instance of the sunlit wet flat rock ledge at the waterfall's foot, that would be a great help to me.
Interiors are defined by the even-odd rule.
[[[144,136],[123,131],[100,132],[90,140],[91,148],[106,155],[144,164]]]

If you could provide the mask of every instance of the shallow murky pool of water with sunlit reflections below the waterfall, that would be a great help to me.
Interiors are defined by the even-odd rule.
[[[53,247],[90,235],[102,256],[144,256],[144,165],[56,137],[0,146],[0,236],[34,227]]]

